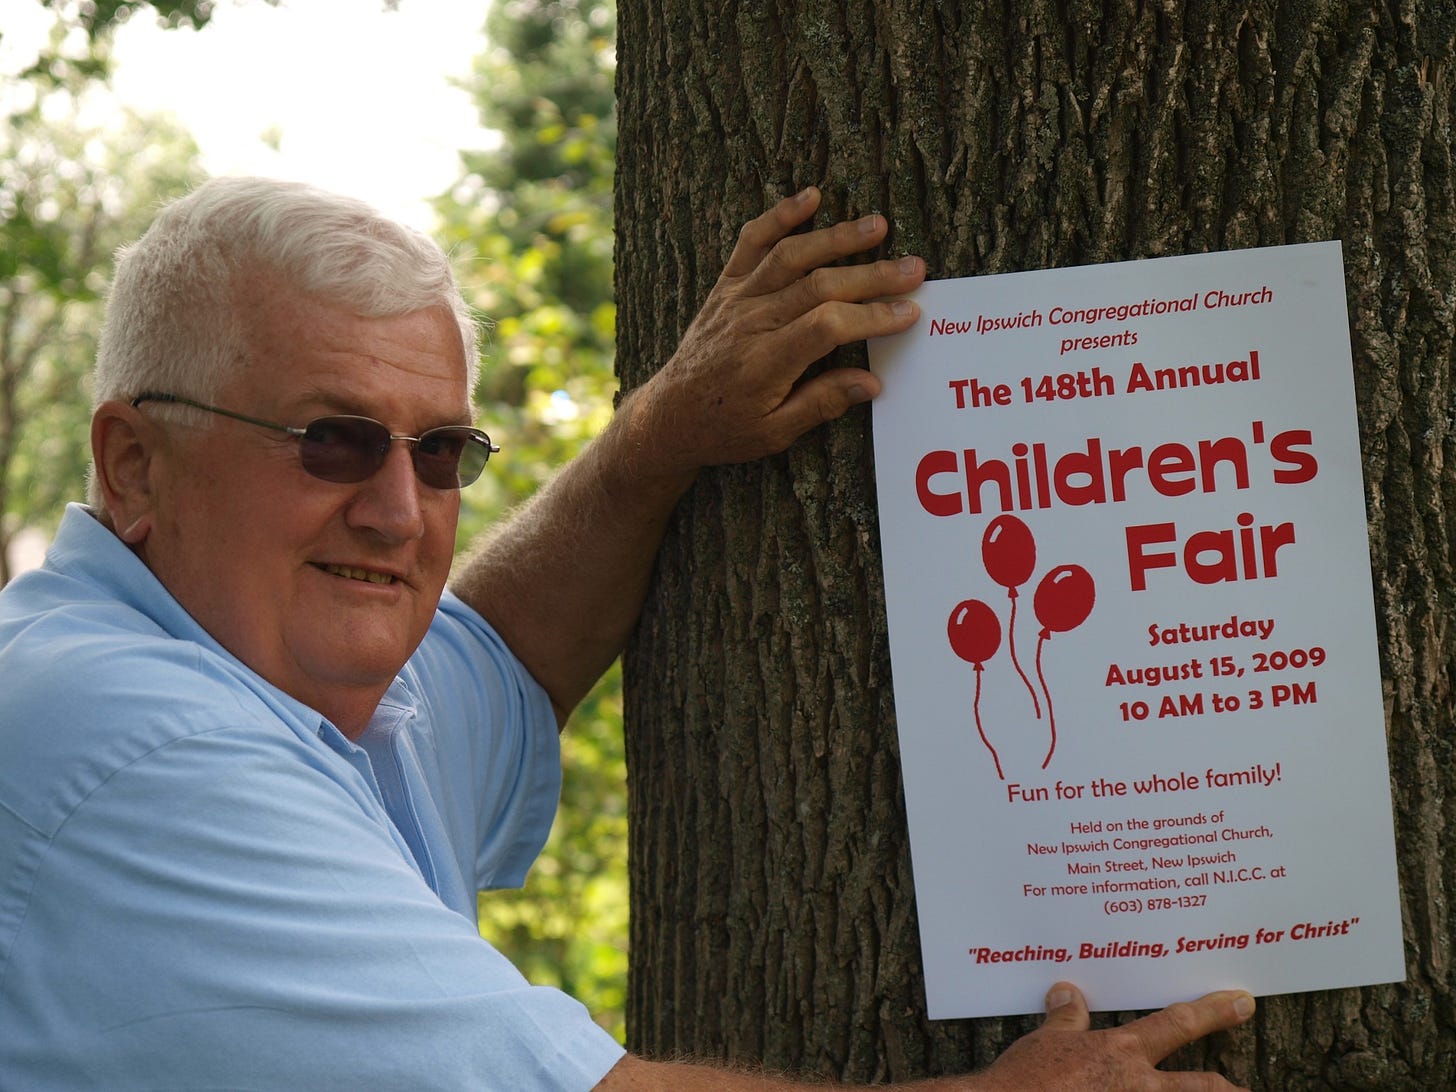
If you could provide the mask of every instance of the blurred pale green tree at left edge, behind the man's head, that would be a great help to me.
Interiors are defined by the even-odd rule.
[[[73,47],[58,19],[50,63],[0,93],[0,584],[15,533],[83,495],[112,253],[199,178],[191,137],[108,96],[106,39]]]

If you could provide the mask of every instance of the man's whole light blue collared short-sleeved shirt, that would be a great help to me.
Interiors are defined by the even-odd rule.
[[[73,505],[0,594],[0,1089],[590,1089],[622,1047],[475,920],[559,785],[454,597],[354,745]]]

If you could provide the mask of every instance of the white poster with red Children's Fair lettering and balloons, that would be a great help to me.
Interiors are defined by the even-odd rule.
[[[1340,245],[914,298],[871,364],[930,1016],[1401,980]]]

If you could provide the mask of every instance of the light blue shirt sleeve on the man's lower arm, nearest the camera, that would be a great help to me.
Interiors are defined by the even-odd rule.
[[[593,1088],[622,1047],[435,897],[336,757],[224,727],[92,791],[29,869],[4,1083]]]

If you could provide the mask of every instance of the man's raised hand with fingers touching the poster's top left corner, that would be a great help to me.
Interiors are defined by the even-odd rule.
[[[628,399],[623,412],[646,464],[692,476],[776,454],[879,393],[862,368],[802,376],[840,345],[914,325],[919,307],[887,297],[919,287],[925,262],[833,265],[878,246],[888,224],[872,214],[792,234],[818,204],[811,186],[743,227],[677,352]]]

